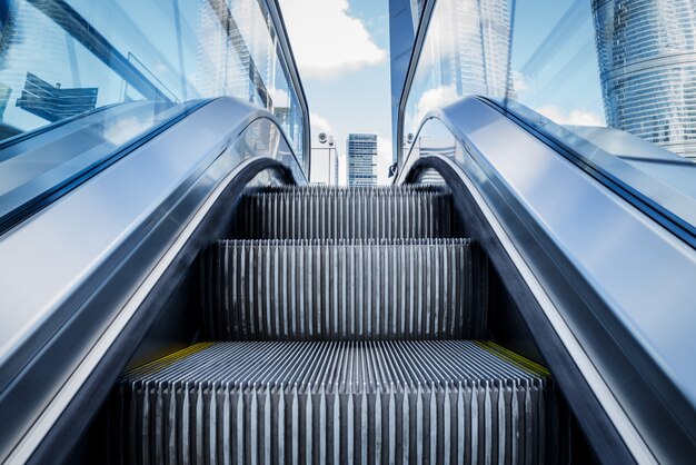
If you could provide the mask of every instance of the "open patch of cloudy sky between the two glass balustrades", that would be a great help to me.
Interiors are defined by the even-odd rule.
[[[312,140],[334,135],[345,182],[350,132],[378,137],[377,181],[391,164],[387,0],[280,0],[310,110]]]

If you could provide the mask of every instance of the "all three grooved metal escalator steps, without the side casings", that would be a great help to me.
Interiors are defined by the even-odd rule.
[[[487,340],[488,264],[435,187],[246,194],[199,343],[123,374],[115,463],[563,463],[549,372]]]

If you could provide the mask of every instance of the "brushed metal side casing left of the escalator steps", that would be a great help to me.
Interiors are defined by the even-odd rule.
[[[261,132],[259,145],[253,142],[257,132],[247,128],[262,121],[269,129]],[[268,144],[264,135],[271,135],[271,146],[264,146],[264,140]],[[172,162],[170,157],[177,152],[182,157]],[[274,152],[274,159],[265,156]],[[182,240],[177,235],[190,233],[191,216],[199,218],[211,192],[243,167],[281,169],[295,181],[306,182],[277,118],[239,100],[216,99],[31,221],[0,236],[4,258],[0,261],[4,330],[0,410],[6,426],[0,431],[0,461],[10,453],[27,457],[38,446],[48,429],[41,426],[28,435],[28,428],[33,428],[29,425],[43,425],[44,417],[49,424],[57,421],[56,412],[62,412],[71,398],[57,393],[79,389],[79,384],[66,382],[66,376],[78,376],[76,364],[82,376],[84,364],[100,363],[86,347],[110,347],[99,332],[109,327],[115,315],[122,316],[125,303],[132,307],[130,293],[147,297],[142,276],[161,266],[162,254],[178,257],[171,249]],[[152,177],[153,170],[158,175]],[[37,244],[37,238],[43,239]],[[191,254],[181,259],[191,260]],[[27,296],[26,289],[37,283],[40,286]],[[89,357],[84,350],[90,350]]]

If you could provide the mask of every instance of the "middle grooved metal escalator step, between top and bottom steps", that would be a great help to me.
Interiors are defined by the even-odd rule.
[[[218,340],[485,337],[487,261],[468,239],[221,240],[203,260]]]

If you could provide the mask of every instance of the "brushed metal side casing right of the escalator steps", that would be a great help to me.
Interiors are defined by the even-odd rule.
[[[438,144],[449,141],[446,152],[424,137],[426,150],[411,151],[400,181],[438,158],[456,165],[509,236],[508,254],[533,277],[537,299],[548,304],[546,317],[618,441],[638,462],[689,457],[696,444],[696,370],[687,355],[696,350],[696,251],[484,101],[431,112],[422,135],[431,129]],[[586,409],[578,407],[581,416]],[[597,421],[588,419],[587,428]],[[596,439],[606,444],[607,436]]]

